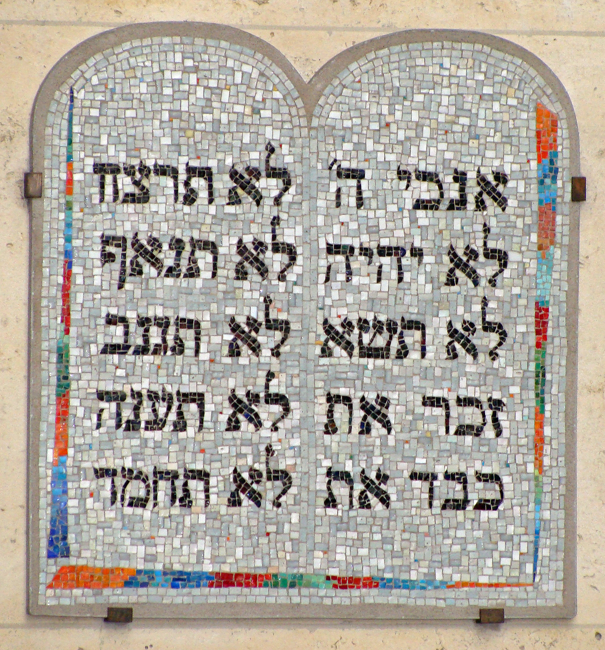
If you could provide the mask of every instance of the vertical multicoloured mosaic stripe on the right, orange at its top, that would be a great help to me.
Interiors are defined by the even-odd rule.
[[[535,138],[538,177],[538,259],[535,301],[535,420],[534,420],[534,582],[540,550],[540,515],[543,490],[544,417],[546,387],[546,344],[548,305],[552,284],[552,263],[556,232],[557,201],[557,125],[556,114],[538,103],[535,114]]]

